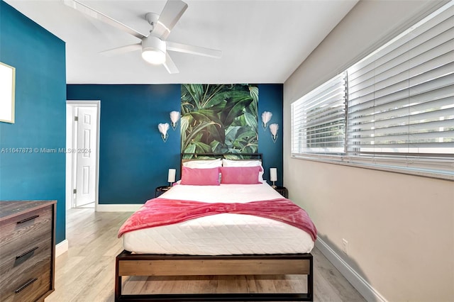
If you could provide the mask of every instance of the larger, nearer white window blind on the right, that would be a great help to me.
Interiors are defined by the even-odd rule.
[[[453,11],[348,69],[349,155],[454,154]]]

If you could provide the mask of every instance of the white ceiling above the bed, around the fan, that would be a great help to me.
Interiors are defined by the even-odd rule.
[[[160,13],[166,2],[81,1],[145,34],[145,13]],[[222,50],[223,55],[213,59],[169,52],[179,73],[168,74],[165,67],[143,61],[140,51],[99,54],[140,40],[62,1],[6,0],[66,42],[68,84],[283,83],[358,2],[184,1],[189,8],[167,40]]]

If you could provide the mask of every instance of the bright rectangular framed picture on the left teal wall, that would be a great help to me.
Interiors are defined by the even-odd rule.
[[[0,62],[0,122],[14,123],[16,68]]]

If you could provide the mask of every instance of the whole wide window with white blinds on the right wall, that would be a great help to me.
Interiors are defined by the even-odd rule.
[[[295,101],[292,156],[454,179],[453,45],[450,2]]]

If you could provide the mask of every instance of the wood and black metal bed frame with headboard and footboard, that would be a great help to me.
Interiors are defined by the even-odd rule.
[[[238,155],[181,155],[182,162],[204,157]],[[262,155],[240,154],[240,159],[262,160]],[[123,250],[115,262],[115,301],[313,301],[311,253],[277,255],[154,255]],[[123,276],[307,275],[306,293],[166,293],[122,294]]]

